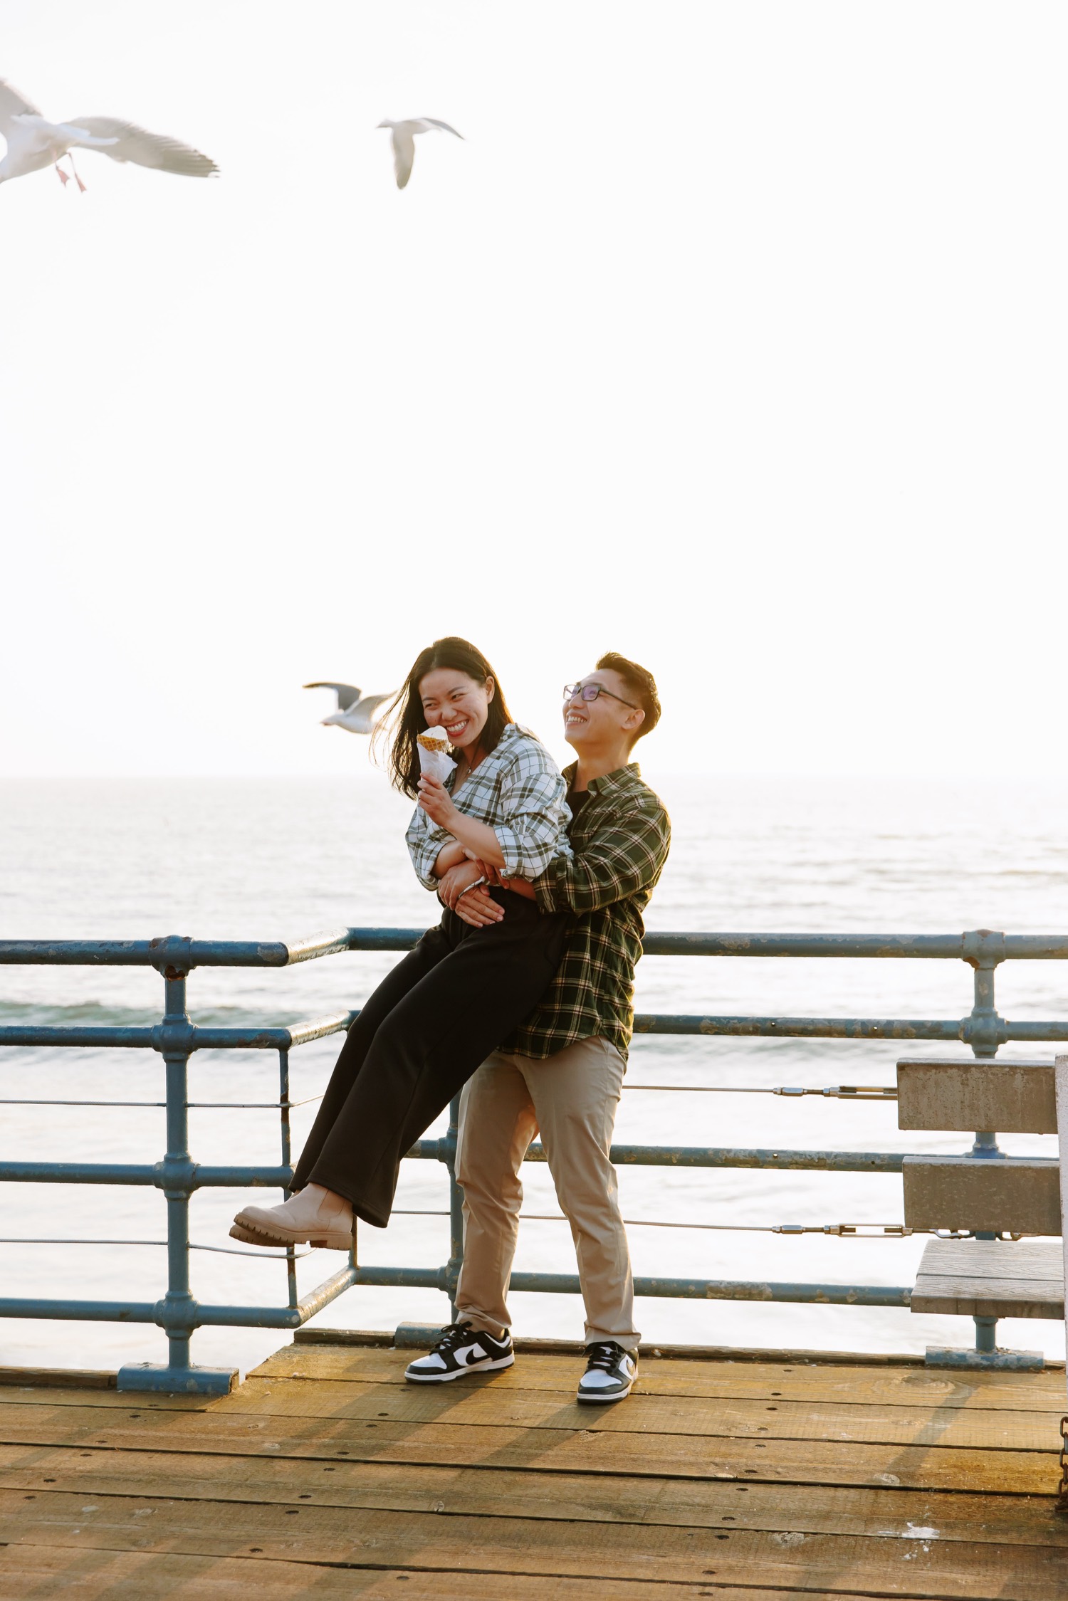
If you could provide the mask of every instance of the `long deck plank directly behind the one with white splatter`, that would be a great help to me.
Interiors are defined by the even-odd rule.
[[[517,1428],[395,1423],[387,1418],[269,1420],[242,1415],[144,1414],[125,1422],[94,1409],[42,1407],[10,1444],[106,1446],[226,1455],[527,1468],[541,1473],[628,1473],[645,1478],[743,1479],[778,1484],[882,1484],[892,1489],[988,1491],[1052,1495],[1052,1451],[970,1451],[938,1446],[828,1441],[701,1439],[690,1434],[612,1433],[604,1428]],[[5,1423],[11,1414],[5,1414]]]

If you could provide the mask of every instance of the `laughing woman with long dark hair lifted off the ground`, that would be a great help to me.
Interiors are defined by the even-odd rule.
[[[541,913],[508,887],[500,922],[472,929],[452,911],[493,866],[536,879],[570,847],[559,767],[512,722],[496,674],[466,639],[439,639],[397,696],[394,784],[418,800],[412,865],[444,913],[383,978],[352,1023],[283,1206],[250,1206],[231,1234],[255,1246],[349,1250],[355,1217],[384,1228],[400,1159],[480,1061],[540,1001],[560,961],[565,913]],[[458,764],[421,776],[418,735],[442,727]],[[471,858],[477,860],[471,860]]]

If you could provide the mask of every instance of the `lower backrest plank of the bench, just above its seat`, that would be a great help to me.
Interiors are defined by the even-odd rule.
[[[1030,1156],[906,1156],[901,1166],[909,1228],[1060,1234],[1060,1169]]]

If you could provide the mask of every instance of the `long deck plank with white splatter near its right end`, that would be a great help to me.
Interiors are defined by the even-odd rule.
[[[737,1484],[511,1468],[408,1467],[293,1457],[0,1447],[0,1489],[86,1497],[277,1502],[387,1511],[1068,1547],[1046,1497]],[[226,1516],[226,1513],[223,1513]]]

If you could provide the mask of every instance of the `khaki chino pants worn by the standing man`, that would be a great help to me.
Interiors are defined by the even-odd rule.
[[[586,1343],[637,1350],[634,1282],[608,1159],[623,1058],[607,1039],[580,1039],[535,1061],[495,1050],[460,1101],[456,1178],[464,1193],[464,1262],[456,1316],[501,1338],[524,1190],[519,1169],[541,1134],[560,1210],[572,1225],[586,1303]]]

